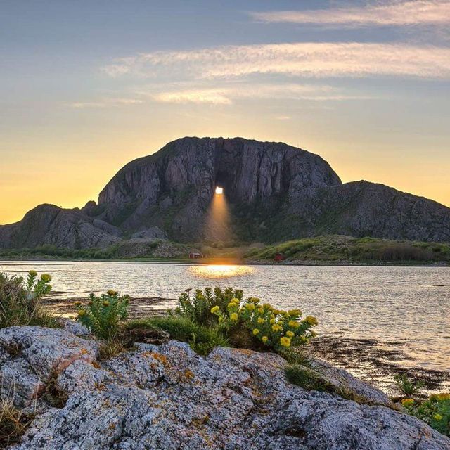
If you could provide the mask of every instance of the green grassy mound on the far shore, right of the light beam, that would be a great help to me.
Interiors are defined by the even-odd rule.
[[[254,248],[245,258],[274,260],[277,254],[287,261],[310,262],[450,262],[450,244],[409,242],[349,236],[318,236],[289,240],[264,248]]]

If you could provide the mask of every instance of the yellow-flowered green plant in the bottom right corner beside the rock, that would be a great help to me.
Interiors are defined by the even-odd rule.
[[[450,436],[450,393],[433,394],[428,400],[403,399],[406,411],[428,423],[443,435]]]

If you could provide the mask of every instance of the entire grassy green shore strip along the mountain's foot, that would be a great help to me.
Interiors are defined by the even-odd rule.
[[[207,258],[189,259],[189,249]],[[169,251],[167,251],[169,249]],[[318,265],[442,265],[450,263],[450,243],[431,243],[350,236],[317,236],[283,243],[226,245],[196,243],[186,246],[168,241],[154,241],[144,252],[120,245],[105,249],[70,250],[43,245],[34,249],[0,250],[0,259],[61,259],[120,262],[195,262],[200,264],[278,264]]]

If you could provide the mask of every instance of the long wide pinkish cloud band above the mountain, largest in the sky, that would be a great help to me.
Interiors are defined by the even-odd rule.
[[[217,79],[254,74],[449,78],[450,49],[356,42],[222,46],[139,54],[108,65],[103,71],[115,77],[157,79],[168,76],[175,79]]]

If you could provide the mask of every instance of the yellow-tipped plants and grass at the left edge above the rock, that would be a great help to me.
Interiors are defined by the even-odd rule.
[[[27,280],[21,276],[0,274],[0,328],[40,325],[57,327],[58,321],[41,304],[51,291],[51,276],[30,271]]]

